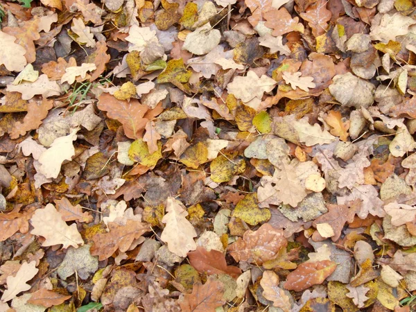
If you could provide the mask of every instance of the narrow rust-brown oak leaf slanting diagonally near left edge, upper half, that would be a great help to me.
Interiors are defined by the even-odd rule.
[[[24,116],[23,123],[17,121],[10,132],[11,139],[17,139],[21,135],[26,135],[26,132],[39,128],[42,120],[48,116],[49,110],[53,107],[53,101],[48,101],[46,98],[41,103],[33,101],[28,103],[28,114]]]

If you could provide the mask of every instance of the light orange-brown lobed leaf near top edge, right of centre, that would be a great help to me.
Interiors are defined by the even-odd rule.
[[[304,32],[304,26],[299,22],[299,17],[292,18],[286,8],[272,9],[263,13],[266,19],[265,26],[272,28],[275,37],[290,33],[291,31]]]

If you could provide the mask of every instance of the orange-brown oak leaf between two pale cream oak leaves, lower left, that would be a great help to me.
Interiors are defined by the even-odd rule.
[[[110,232],[98,233],[92,238],[94,245],[91,248],[92,256],[98,256],[100,261],[110,258],[116,250],[126,252],[135,239],[150,231],[146,223],[137,220],[127,220],[125,225],[108,223]]]

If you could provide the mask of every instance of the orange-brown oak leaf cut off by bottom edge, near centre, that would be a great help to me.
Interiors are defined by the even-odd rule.
[[[208,279],[204,285],[198,281],[193,284],[192,293],[184,295],[180,307],[182,312],[215,312],[225,304],[223,293],[224,286],[220,281]]]

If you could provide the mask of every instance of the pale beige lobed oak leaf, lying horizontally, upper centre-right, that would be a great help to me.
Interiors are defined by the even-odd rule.
[[[236,98],[244,103],[254,98],[261,100],[264,92],[270,92],[275,88],[277,82],[263,75],[261,78],[254,71],[248,71],[247,76],[236,76],[232,83],[229,83],[227,90],[229,94],[234,94]]]

